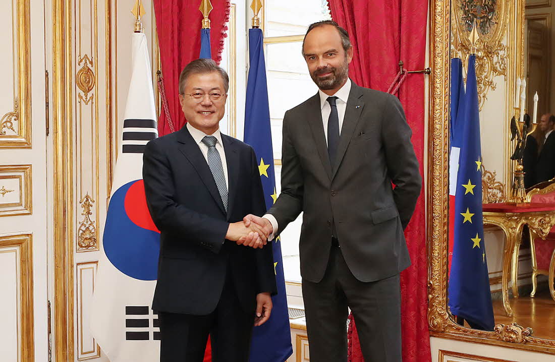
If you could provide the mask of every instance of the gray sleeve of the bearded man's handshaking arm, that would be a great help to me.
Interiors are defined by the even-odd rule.
[[[289,119],[290,111],[287,111],[283,120],[281,192],[274,206],[268,211],[278,221],[279,230],[274,236],[278,236],[291,221],[295,221],[302,211],[304,181],[299,156],[291,141]]]

